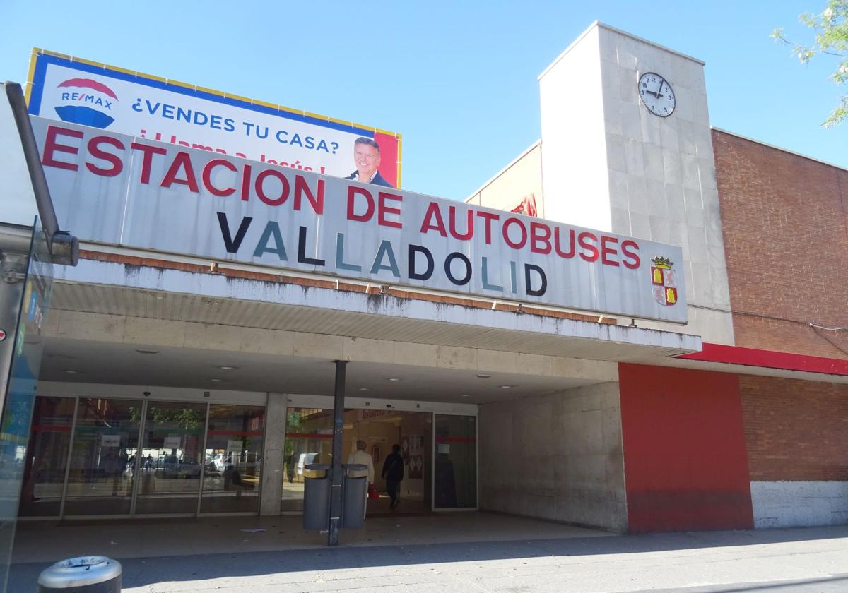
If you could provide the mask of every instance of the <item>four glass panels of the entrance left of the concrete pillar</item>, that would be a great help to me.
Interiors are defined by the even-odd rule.
[[[19,516],[259,512],[265,406],[35,399]]]

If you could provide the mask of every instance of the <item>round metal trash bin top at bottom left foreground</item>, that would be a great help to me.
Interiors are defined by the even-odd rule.
[[[38,575],[38,593],[120,593],[120,563],[105,556],[68,558]]]

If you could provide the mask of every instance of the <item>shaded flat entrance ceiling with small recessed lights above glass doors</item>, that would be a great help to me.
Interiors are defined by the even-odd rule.
[[[331,359],[47,338],[39,378],[46,381],[332,396],[334,373]],[[510,373],[487,373],[491,376],[481,378],[477,373],[472,370],[352,362],[347,369],[347,395],[422,402],[483,403],[562,391],[597,382]]]

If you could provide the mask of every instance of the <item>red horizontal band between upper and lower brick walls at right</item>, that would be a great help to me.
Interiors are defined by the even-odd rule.
[[[701,352],[681,354],[678,358],[710,363],[744,364],[749,367],[806,371],[848,376],[848,359],[807,356],[792,352],[758,350],[725,344],[705,343]]]

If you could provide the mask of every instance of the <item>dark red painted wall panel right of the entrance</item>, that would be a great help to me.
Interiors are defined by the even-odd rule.
[[[735,374],[619,364],[632,532],[752,529]]]

